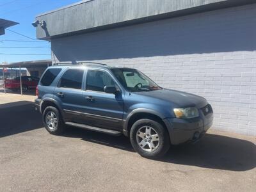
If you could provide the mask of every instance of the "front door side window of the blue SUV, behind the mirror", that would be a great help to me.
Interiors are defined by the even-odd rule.
[[[104,86],[115,86],[111,76],[101,70],[88,70],[86,75],[86,90],[104,92]]]

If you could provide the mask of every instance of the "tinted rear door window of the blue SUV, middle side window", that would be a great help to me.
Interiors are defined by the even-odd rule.
[[[81,89],[83,74],[83,69],[68,69],[60,79],[60,87]]]

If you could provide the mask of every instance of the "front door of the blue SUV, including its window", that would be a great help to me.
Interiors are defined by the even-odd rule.
[[[118,92],[105,93],[104,86],[116,86],[115,79],[106,70],[88,69],[86,72],[84,112],[86,124],[106,129],[122,130],[123,97]]]

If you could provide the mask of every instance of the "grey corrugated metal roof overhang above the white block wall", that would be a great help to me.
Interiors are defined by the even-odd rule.
[[[86,0],[38,15],[36,37],[51,40],[250,3],[255,0]]]

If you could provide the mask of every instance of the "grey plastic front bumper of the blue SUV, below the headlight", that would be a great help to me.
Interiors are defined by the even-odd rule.
[[[179,145],[202,138],[213,123],[213,113],[198,118],[166,118],[163,121],[169,131],[172,145]]]

